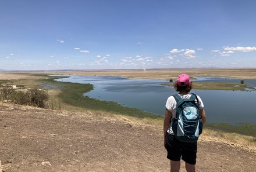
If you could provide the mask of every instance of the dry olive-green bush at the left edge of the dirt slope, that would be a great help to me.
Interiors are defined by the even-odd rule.
[[[12,86],[2,86],[0,88],[0,99],[10,100],[15,104],[33,105],[45,108],[45,101],[48,100],[48,94],[45,90],[29,89],[15,90]]]

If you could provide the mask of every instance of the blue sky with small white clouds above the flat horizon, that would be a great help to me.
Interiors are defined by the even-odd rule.
[[[0,69],[256,67],[256,1],[0,0]]]

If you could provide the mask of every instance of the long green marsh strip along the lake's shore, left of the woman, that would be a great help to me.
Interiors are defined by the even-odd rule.
[[[65,76],[48,76],[44,74],[36,75],[42,76],[41,78],[43,78],[37,80],[38,83],[41,83],[39,87],[59,90],[60,92],[56,97],[60,98],[62,103],[72,105],[73,107],[113,112],[115,114],[134,116],[137,118],[162,119],[162,116],[158,116],[150,112],[144,112],[136,108],[123,107],[113,101],[101,101],[95,98],[83,96],[84,93],[93,90],[93,85],[91,84],[56,82],[54,80],[66,78]],[[52,107],[54,107],[54,105],[52,105]]]

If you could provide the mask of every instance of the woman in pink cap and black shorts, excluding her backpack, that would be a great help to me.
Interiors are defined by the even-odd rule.
[[[181,98],[190,98],[190,90],[192,89],[192,82],[189,75],[179,75],[174,88],[179,92]],[[195,101],[200,104],[200,116],[202,123],[205,123],[206,116],[204,111],[204,104],[199,96]],[[167,158],[170,159],[170,171],[178,172],[180,170],[180,158],[184,160],[186,170],[188,172],[195,171],[195,163],[197,158],[197,142],[187,143],[177,140],[173,134],[171,121],[176,118],[176,100],[173,96],[168,97],[165,105],[165,119],[163,122],[163,138],[164,146],[167,150]]]

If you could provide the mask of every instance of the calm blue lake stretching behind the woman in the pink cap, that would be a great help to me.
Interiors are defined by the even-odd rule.
[[[63,76],[63,75],[61,75]],[[127,79],[119,76],[77,76],[56,79],[62,82],[91,83],[94,90],[84,96],[98,100],[115,101],[123,106],[139,108],[143,111],[164,115],[165,103],[169,96],[177,92],[166,80]],[[256,87],[255,79],[243,79],[250,87]],[[196,82],[240,83],[241,79],[197,77]],[[191,90],[202,98],[208,123],[246,122],[256,125],[256,92],[226,90]]]

